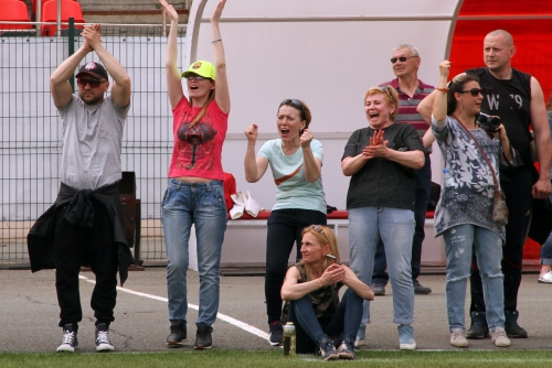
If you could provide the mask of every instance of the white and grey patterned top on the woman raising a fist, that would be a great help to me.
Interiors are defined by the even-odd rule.
[[[506,240],[505,227],[498,227],[492,220],[492,173],[474,139],[452,117],[437,121],[432,116],[432,131],[445,160],[445,167],[448,167],[454,178],[454,183],[448,186],[445,181],[442,184],[440,198],[435,209],[435,236],[442,235],[450,227],[471,224],[492,230]],[[489,137],[481,128],[470,132],[484,149],[500,182],[500,140]]]

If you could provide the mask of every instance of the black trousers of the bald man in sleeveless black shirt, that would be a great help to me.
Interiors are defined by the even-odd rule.
[[[533,172],[529,167],[517,167],[510,183],[501,183],[508,206],[508,225],[506,226],[506,242],[502,247],[502,273],[505,274],[505,311],[517,311],[518,291],[521,283],[521,264],[523,260],[523,243],[526,242],[533,196]],[[481,277],[477,260],[471,261],[470,272],[471,305],[470,312],[485,312]]]

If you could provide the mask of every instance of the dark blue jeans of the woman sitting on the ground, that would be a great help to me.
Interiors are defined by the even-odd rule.
[[[317,320],[308,294],[289,303],[288,320],[296,325],[297,353],[299,354],[315,351],[323,335],[335,337],[342,333],[342,338],[348,337],[354,342],[361,317],[362,299],[352,289],[344,292],[337,313],[327,321]]]

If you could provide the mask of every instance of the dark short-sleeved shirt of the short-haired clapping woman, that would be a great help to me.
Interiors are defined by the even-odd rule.
[[[423,145],[416,130],[406,123],[393,123],[384,129],[383,139],[388,148],[396,151],[422,151]],[[370,145],[372,128],[354,131],[344,148],[344,158],[354,158]],[[388,159],[375,158],[351,176],[347,193],[347,209],[385,206],[391,208],[414,209],[416,199],[415,171]]]

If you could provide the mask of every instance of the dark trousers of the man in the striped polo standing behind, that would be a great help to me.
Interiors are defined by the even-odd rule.
[[[416,228],[412,238],[412,281],[416,281],[420,275],[422,264],[422,243],[425,238],[425,216],[427,213],[427,204],[432,194],[432,160],[429,155],[425,155],[425,164],[422,169],[416,170],[416,203],[414,205],[414,219]],[[385,249],[383,242],[378,243],[375,249],[374,271],[372,280],[383,281],[388,283],[389,275],[386,272],[388,261],[385,259]]]

